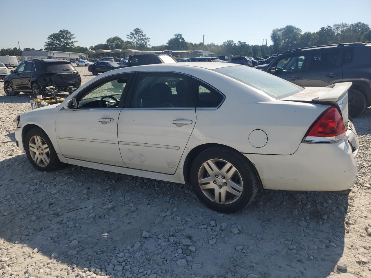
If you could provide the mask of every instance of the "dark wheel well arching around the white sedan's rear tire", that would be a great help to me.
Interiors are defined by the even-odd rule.
[[[236,149],[233,149],[229,146],[226,146],[226,145],[221,145],[221,144],[213,144],[213,143],[210,143],[210,144],[203,144],[203,145],[199,145],[197,146],[196,148],[193,148],[188,154],[187,154],[187,157],[185,158],[184,160],[184,165],[183,165],[183,176],[184,176],[184,182],[185,184],[189,184],[190,183],[190,172],[191,172],[191,166],[192,166],[192,163],[194,161],[194,159],[201,153],[203,152],[204,150],[208,149],[208,148],[211,148],[211,147],[223,147],[223,148],[228,148],[228,149],[231,149],[235,152],[239,152],[238,150]],[[240,153],[240,152],[239,152]],[[257,172],[257,169],[255,167],[255,165],[248,159],[246,158],[246,160],[250,163],[250,165],[252,166],[252,168],[254,169],[255,173],[256,173],[256,176],[257,178],[259,179],[259,184],[260,184],[260,188],[263,189],[263,183],[260,179],[260,176],[259,176],[259,173]]]

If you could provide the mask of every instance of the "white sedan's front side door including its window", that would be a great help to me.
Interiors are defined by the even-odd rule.
[[[117,125],[130,77],[125,74],[100,79],[75,97],[77,107],[58,112],[56,135],[66,158],[125,167]]]

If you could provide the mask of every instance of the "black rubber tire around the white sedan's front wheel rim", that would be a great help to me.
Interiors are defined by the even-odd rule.
[[[30,151],[29,144],[30,140],[33,136],[39,136],[42,138],[43,143],[46,143],[46,145],[49,148],[49,163],[45,166],[40,166],[35,162],[33,159],[33,154]],[[33,167],[35,167],[39,171],[55,171],[58,169],[61,165],[61,162],[57,156],[57,153],[55,152],[55,149],[53,147],[52,142],[50,141],[49,137],[46,135],[46,133],[39,128],[33,128],[29,132],[27,132],[26,136],[24,136],[23,140],[23,146],[24,146],[24,151],[26,152],[27,158],[30,160],[30,163],[32,164]],[[43,153],[43,155],[47,155],[47,153]]]

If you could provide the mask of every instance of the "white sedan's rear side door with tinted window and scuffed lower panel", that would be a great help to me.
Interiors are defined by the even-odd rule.
[[[196,123],[191,77],[139,73],[118,123],[129,168],[174,174]]]

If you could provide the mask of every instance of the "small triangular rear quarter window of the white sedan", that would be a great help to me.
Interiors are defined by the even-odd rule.
[[[221,93],[197,79],[193,79],[193,90],[196,108],[216,108],[224,100]]]

